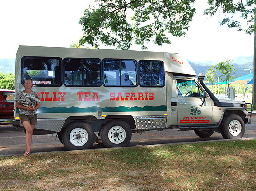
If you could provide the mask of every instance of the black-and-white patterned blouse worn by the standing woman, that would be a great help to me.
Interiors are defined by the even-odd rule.
[[[32,91],[31,93],[25,93],[24,91],[20,91],[15,98],[15,102],[19,102],[20,105],[22,106],[29,106],[33,104],[34,107],[36,107],[37,103],[40,103],[40,99],[37,95],[36,92]],[[19,109],[20,114],[25,114],[25,115],[34,115],[37,113],[37,111],[29,111],[26,109]]]

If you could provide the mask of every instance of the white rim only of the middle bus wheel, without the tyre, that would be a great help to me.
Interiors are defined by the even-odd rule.
[[[114,144],[120,144],[126,138],[126,131],[121,126],[113,126],[108,131],[108,138]]]

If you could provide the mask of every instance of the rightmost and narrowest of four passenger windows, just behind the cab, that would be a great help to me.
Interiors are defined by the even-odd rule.
[[[162,61],[140,61],[140,85],[164,86],[164,70]]]

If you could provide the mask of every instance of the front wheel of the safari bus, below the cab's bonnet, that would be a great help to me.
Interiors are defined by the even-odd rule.
[[[244,131],[244,121],[236,114],[225,116],[220,125],[220,133],[223,138],[242,138]]]

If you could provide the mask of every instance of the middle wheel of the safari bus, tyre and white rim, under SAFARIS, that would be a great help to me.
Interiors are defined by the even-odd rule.
[[[131,130],[124,121],[111,121],[102,127],[100,135],[106,147],[126,147],[130,143]]]

